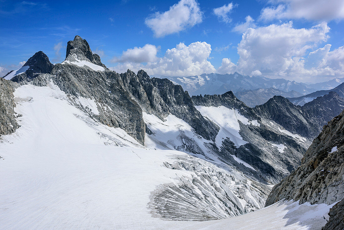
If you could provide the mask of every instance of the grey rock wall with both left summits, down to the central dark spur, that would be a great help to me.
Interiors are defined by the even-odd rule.
[[[162,121],[168,114],[174,114],[207,140],[213,140],[219,130],[213,122],[204,119],[181,86],[167,79],[151,79],[143,70],[138,74],[130,70],[121,74],[110,71],[99,56],[92,53],[87,41],[79,36],[68,42],[64,62],[53,66],[40,51],[26,64],[30,68],[14,76],[12,81],[37,86],[53,81],[90,117],[124,129],[141,144],[146,131],[142,110],[155,114]],[[43,74],[46,72],[49,74]],[[85,99],[96,103],[96,109],[84,106],[81,101]]]

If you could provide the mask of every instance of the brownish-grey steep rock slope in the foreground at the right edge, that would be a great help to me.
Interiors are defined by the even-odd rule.
[[[281,199],[332,204],[344,197],[344,111],[332,119],[302,158],[302,165],[277,184],[266,206]]]

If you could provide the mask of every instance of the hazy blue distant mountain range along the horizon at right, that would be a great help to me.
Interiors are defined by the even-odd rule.
[[[344,78],[335,78],[326,82],[308,84],[286,79],[270,79],[260,76],[250,77],[237,72],[233,74],[203,73],[200,76],[189,77],[163,76],[161,78],[167,78],[173,83],[181,85],[184,90],[188,91],[190,96],[222,94],[232,91],[235,92],[235,96],[250,107],[263,104],[273,96],[298,98],[317,90],[327,91],[319,94],[319,96],[323,96],[329,90],[344,82]]]

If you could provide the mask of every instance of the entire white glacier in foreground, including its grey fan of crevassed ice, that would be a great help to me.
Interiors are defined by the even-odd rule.
[[[223,219],[261,206],[265,199],[260,185],[184,152],[147,149],[122,129],[91,119],[75,107],[79,100],[71,101],[52,82],[20,86],[14,100],[21,127],[0,142],[2,229],[324,225],[320,217],[330,206],[292,202]],[[166,221],[171,218],[221,220]]]

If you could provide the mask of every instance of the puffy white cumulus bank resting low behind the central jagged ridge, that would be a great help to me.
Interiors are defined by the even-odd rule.
[[[190,76],[204,72],[215,72],[214,66],[207,60],[211,53],[211,46],[206,42],[194,42],[189,46],[179,43],[173,49],[166,50],[161,58],[146,64],[125,62],[110,68],[116,72],[125,72],[127,69],[145,70],[155,76]]]

